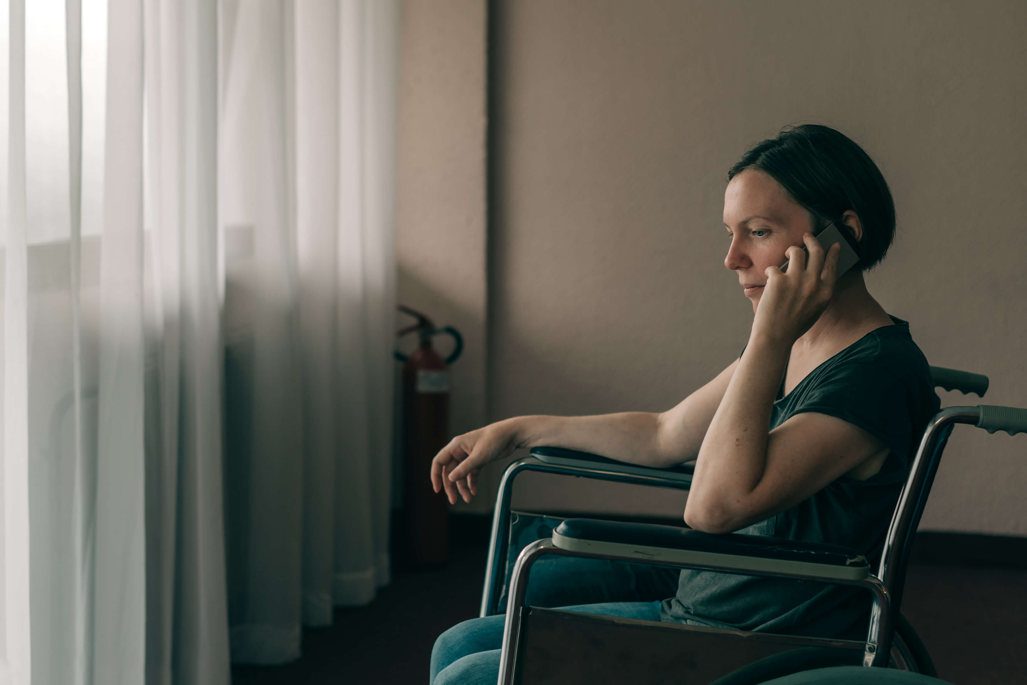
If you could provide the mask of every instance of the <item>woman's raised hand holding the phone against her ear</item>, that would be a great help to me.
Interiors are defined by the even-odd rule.
[[[802,236],[808,251],[793,245],[785,255],[788,271],[771,266],[765,271],[766,287],[756,307],[752,335],[791,345],[816,322],[834,295],[841,245],[834,243],[825,254],[812,233]]]

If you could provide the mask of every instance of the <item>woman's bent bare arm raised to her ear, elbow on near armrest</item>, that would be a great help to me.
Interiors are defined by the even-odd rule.
[[[792,345],[816,321],[834,291],[838,250],[804,236],[809,265],[790,248],[787,273],[767,269],[749,344],[695,462],[685,522],[726,533],[797,504],[885,449],[833,416],[803,413],[769,430],[770,411]]]

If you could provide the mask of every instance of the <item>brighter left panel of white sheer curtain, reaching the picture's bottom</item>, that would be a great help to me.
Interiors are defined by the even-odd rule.
[[[228,679],[216,9],[0,4],[5,682]]]

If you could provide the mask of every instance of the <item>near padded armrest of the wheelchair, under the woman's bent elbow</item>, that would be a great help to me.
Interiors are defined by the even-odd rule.
[[[714,535],[656,524],[568,519],[553,531],[553,544],[569,551],[643,563],[804,575],[826,580],[863,580],[870,572],[863,555],[839,545],[744,533]]]

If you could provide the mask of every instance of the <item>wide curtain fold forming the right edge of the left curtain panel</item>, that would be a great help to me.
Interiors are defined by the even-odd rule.
[[[218,15],[145,0],[148,683],[228,679],[217,210]]]

